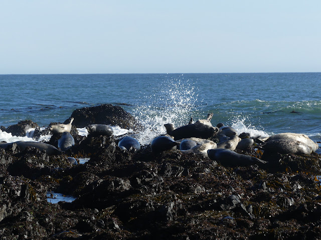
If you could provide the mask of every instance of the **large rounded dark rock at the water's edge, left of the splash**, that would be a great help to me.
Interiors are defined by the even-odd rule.
[[[101,104],[98,106],[83,107],[72,112],[73,125],[85,127],[90,124],[119,125],[121,128],[135,129],[136,119],[120,106]]]

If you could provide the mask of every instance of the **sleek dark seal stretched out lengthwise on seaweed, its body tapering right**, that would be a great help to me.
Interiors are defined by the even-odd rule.
[[[267,161],[263,161],[254,156],[240,154],[230,149],[209,149],[207,154],[211,160],[219,161],[224,166],[235,167],[267,163]]]

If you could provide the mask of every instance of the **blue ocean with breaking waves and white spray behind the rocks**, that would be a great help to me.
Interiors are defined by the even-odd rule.
[[[73,110],[120,105],[144,126],[141,144],[190,118],[223,122],[239,133],[304,133],[321,141],[320,72],[0,75],[0,125],[30,119],[42,127]],[[4,140],[0,132],[0,140]],[[7,139],[7,138],[6,138]]]

